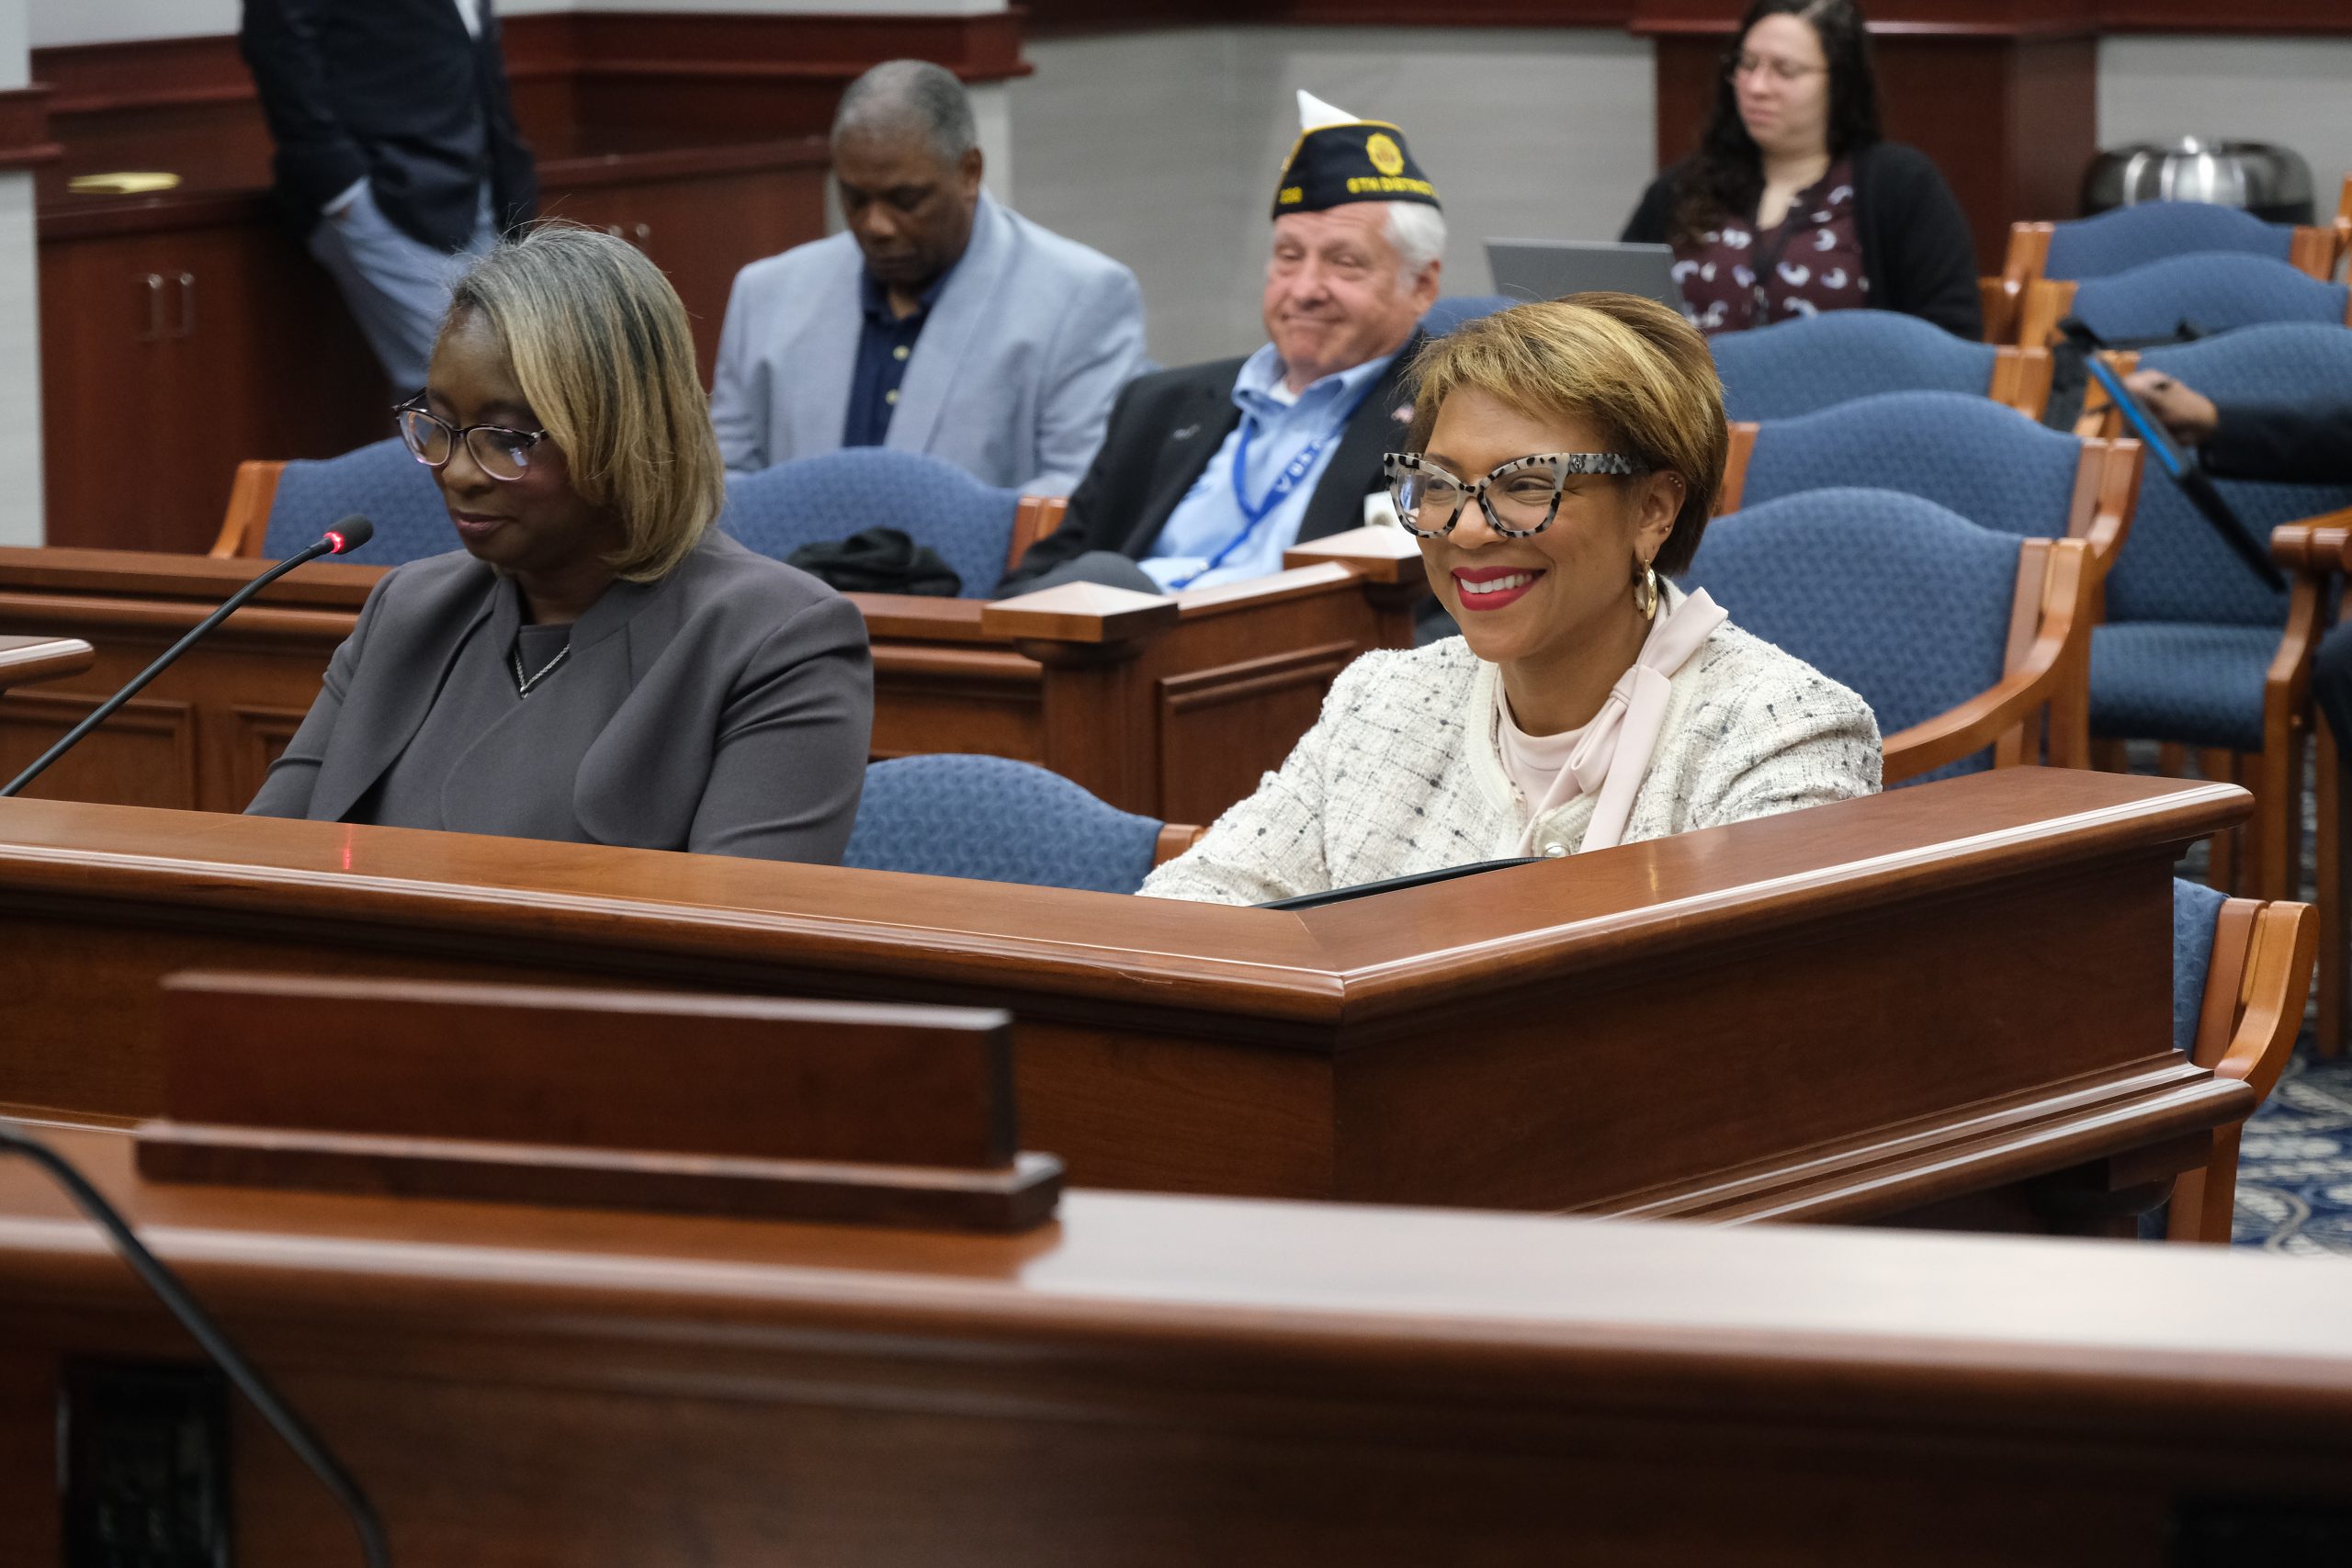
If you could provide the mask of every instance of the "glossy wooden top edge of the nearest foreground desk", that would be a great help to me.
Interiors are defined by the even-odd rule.
[[[162,1192],[129,1138],[52,1133],[230,1326],[350,1316],[731,1345],[746,1328],[1143,1352],[1341,1382],[1519,1389],[1696,1378],[1738,1401],[1900,1410],[1922,1392],[2122,1425],[2260,1403],[2352,1439],[2352,1274],[2223,1248],[1555,1220],[1073,1190],[1030,1237],[583,1215],[501,1204]],[[2042,1307],[2016,1321],[2016,1281]],[[2249,1314],[2249,1293],[2265,1312]],[[153,1314],[106,1241],[0,1168],[0,1302]],[[461,1328],[463,1333],[463,1328]],[[1442,1352],[1442,1354],[1439,1354]],[[1432,1361],[1435,1356],[1435,1361]],[[1442,1366],[1439,1366],[1442,1361]],[[1842,1378],[1870,1368],[1867,1387]],[[2237,1394],[2230,1394],[2234,1385]],[[2251,1413],[2251,1410],[2249,1410]]]

